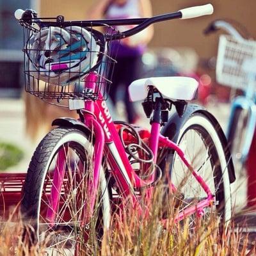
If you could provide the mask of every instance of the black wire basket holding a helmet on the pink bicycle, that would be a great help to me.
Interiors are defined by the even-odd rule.
[[[101,31],[82,22],[77,26],[77,21],[63,26],[54,19],[36,19],[30,24],[20,20],[24,28],[26,92],[49,102],[106,100],[119,45],[111,35],[118,31],[104,24]],[[85,88],[90,82],[95,83],[94,92]]]

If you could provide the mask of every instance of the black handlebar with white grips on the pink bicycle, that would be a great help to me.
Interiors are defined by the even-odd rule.
[[[177,12],[173,13],[166,13],[163,15],[157,15],[151,18],[136,18],[136,19],[109,19],[109,20],[77,20],[72,21],[72,24],[74,26],[118,26],[118,25],[138,25],[135,28],[129,29],[127,31],[124,31],[122,33],[118,33],[116,35],[111,35],[112,40],[118,40],[122,38],[126,38],[128,36],[135,35],[136,33],[139,33],[143,29],[147,28],[151,24],[154,24],[156,22],[161,22],[164,20],[172,20],[172,19],[192,19],[204,15],[211,15],[213,13],[213,6],[212,4],[204,4],[202,6],[193,6],[189,8],[185,8],[182,10],[179,10]],[[14,13],[15,18],[18,20],[24,20],[28,23],[40,23],[45,26],[47,24],[51,24],[49,26],[53,26],[52,22],[43,21],[44,19],[37,18],[37,13],[33,10],[21,10],[18,9]],[[56,26],[70,26],[70,21],[64,21],[63,16],[56,17],[56,20],[58,21],[62,19],[61,23],[56,22]],[[108,36],[106,38],[108,40]]]

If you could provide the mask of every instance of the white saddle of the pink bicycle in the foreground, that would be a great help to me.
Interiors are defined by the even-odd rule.
[[[143,100],[148,86],[154,86],[164,97],[175,100],[195,99],[198,82],[191,77],[150,77],[133,81],[129,85],[131,101]]]

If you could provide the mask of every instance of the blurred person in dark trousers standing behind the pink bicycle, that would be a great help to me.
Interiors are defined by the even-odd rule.
[[[151,17],[152,6],[149,0],[98,0],[93,4],[88,13],[88,19],[127,19]],[[119,31],[126,31],[134,26],[116,26]],[[117,101],[117,92],[120,86],[125,86],[122,90],[122,99],[124,99],[127,121],[132,124],[138,119],[138,114],[134,109],[134,105],[128,97],[128,86],[132,81],[138,79],[140,72],[141,56],[147,48],[148,42],[152,39],[154,29],[152,26],[141,31],[131,38],[125,38],[120,41],[117,64],[113,73],[113,79],[110,86],[109,96],[114,106]],[[118,44],[118,42],[113,42]]]

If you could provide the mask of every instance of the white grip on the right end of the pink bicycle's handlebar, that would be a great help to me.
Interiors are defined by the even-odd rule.
[[[180,19],[191,19],[204,15],[211,15],[213,13],[212,4],[204,4],[201,6],[194,6],[179,10],[182,13],[182,17]]]

